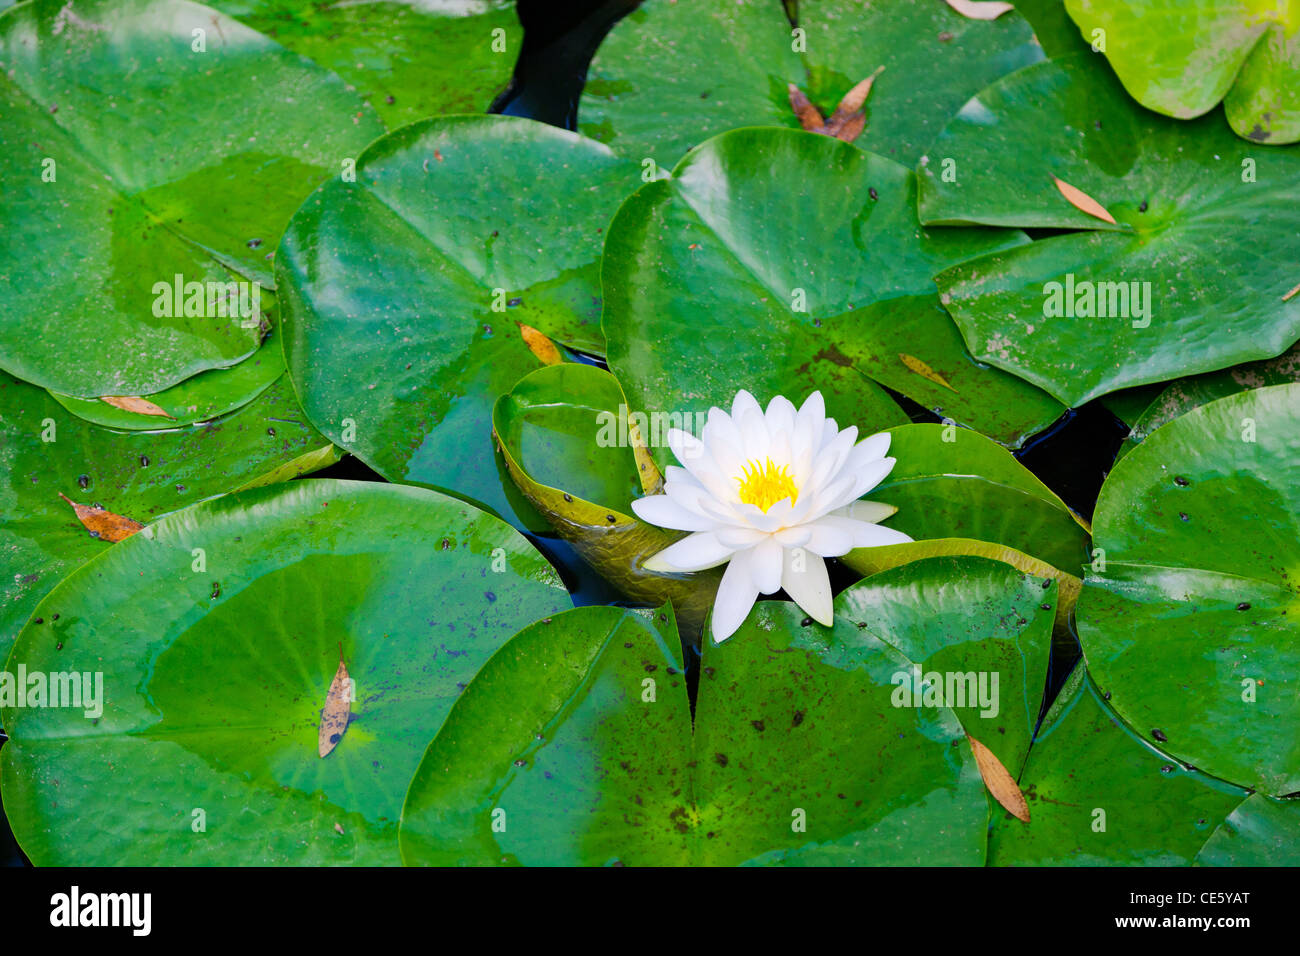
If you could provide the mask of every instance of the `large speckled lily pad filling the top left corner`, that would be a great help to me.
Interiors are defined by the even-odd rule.
[[[10,8],[0,112],[0,367],[82,398],[251,355],[290,215],[382,131],[337,77],[186,0]]]

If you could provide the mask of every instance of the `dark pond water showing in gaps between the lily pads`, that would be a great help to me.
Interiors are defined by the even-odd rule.
[[[524,116],[564,129],[577,127],[578,95],[586,79],[592,55],[610,29],[636,8],[634,0],[520,0],[519,18],[524,26],[524,44],[515,75],[488,112]],[[894,394],[915,421],[937,421],[915,402]],[[1079,514],[1091,518],[1101,481],[1109,471],[1127,427],[1098,402],[1066,412],[1050,428],[1024,444],[1017,458]],[[360,481],[382,481],[365,464],[346,457],[313,477],[338,477]],[[534,545],[559,570],[573,594],[575,604],[621,604],[619,596],[595,575],[573,549],[554,537],[529,536]],[[832,585],[848,587],[855,575],[831,562]],[[688,679],[694,697],[698,656],[688,653]],[[1072,661],[1057,659],[1049,675],[1052,692],[1063,682]],[[1049,693],[1050,697],[1050,693]],[[0,747],[4,735],[0,732]],[[22,866],[27,861],[14,843],[0,806],[0,865]]]

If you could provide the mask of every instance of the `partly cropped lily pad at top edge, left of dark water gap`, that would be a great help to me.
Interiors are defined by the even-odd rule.
[[[437,113],[485,112],[510,81],[523,42],[510,0],[212,5],[334,70],[389,129]]]

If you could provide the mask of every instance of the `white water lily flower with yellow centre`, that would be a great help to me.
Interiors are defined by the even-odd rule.
[[[797,410],[781,395],[764,412],[741,390],[731,415],[710,408],[699,438],[673,428],[663,494],[632,502],[637,516],[694,532],[647,558],[650,571],[703,571],[727,564],[714,602],[712,633],[722,644],[754,601],[781,588],[809,615],[831,624],[831,579],[823,558],[854,548],[911,541],[876,522],[896,509],[858,501],[894,466],[884,432],[854,445],[826,416],[820,392]]]

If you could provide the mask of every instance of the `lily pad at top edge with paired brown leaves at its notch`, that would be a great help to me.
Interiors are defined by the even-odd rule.
[[[967,20],[939,0],[805,3],[798,33],[776,0],[646,0],[592,60],[578,121],[620,155],[671,168],[729,129],[798,127],[790,83],[829,116],[884,66],[858,143],[911,165],[970,96],[1041,57],[1015,13]]]

